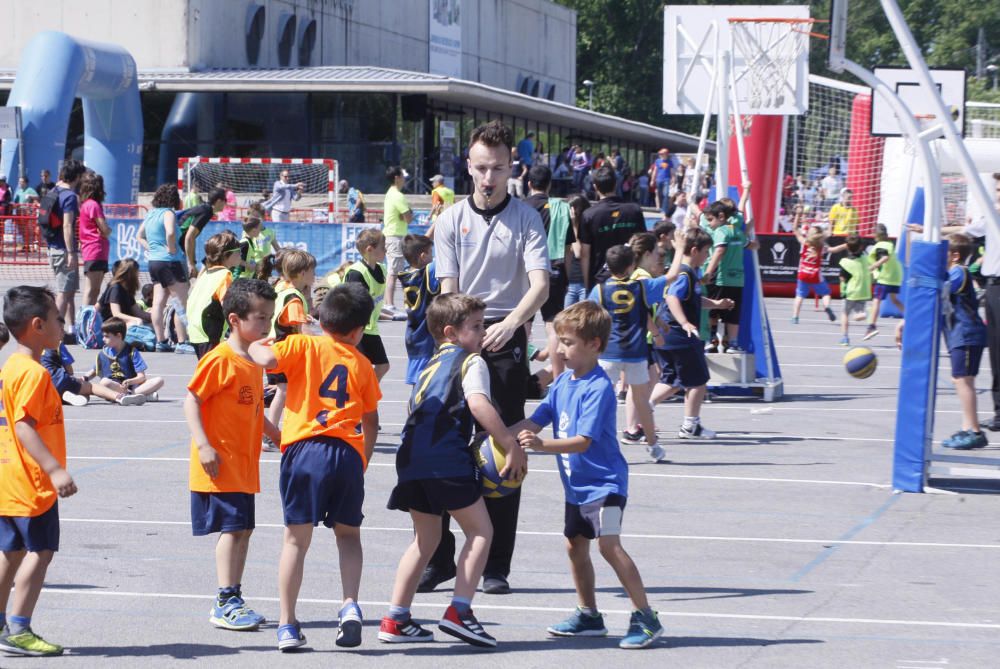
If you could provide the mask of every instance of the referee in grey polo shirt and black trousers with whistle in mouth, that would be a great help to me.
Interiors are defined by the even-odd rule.
[[[542,219],[531,206],[507,194],[513,133],[499,121],[469,138],[471,197],[446,209],[434,227],[434,255],[442,293],[462,292],[486,302],[483,359],[490,393],[506,425],[524,420],[529,376],[524,327],[549,294],[549,256]],[[486,500],[493,543],[483,570],[483,592],[510,592],[521,491]],[[455,576],[455,538],[447,529],[418,586],[429,592]]]

